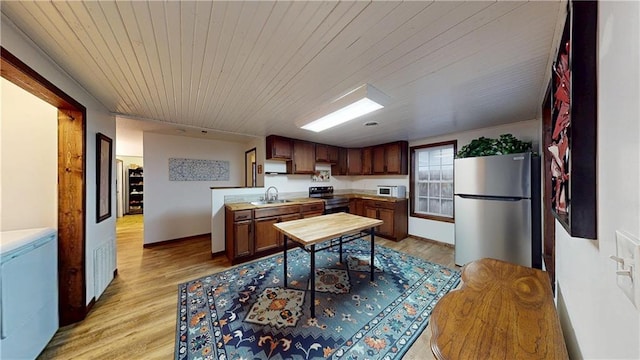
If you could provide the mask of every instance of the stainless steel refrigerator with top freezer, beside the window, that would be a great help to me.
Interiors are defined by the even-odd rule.
[[[455,263],[484,257],[542,266],[540,158],[455,159]]]

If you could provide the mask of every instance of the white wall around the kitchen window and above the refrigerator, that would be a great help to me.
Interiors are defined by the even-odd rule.
[[[520,121],[507,125],[494,126],[484,129],[465,131],[450,135],[437,136],[409,143],[409,147],[425,144],[432,144],[441,141],[457,140],[458,150],[467,145],[471,140],[480,136],[496,138],[502,134],[513,134],[516,138],[523,141],[531,141],[533,149],[540,152],[540,120]],[[407,179],[407,190],[409,189],[409,180]],[[409,195],[411,196],[411,194]],[[427,220],[409,216],[409,234],[423,238],[440,241],[447,244],[455,243],[454,224],[442,221]]]

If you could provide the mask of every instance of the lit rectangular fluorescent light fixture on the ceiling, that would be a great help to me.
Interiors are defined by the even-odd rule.
[[[302,128],[320,132],[382,109],[388,100],[389,98],[380,90],[369,84],[364,84],[332,102],[328,107],[328,111],[331,111],[329,114],[302,126]]]

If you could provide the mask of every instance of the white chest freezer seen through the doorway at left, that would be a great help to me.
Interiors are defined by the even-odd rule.
[[[58,330],[57,232],[0,236],[0,358],[35,359]]]

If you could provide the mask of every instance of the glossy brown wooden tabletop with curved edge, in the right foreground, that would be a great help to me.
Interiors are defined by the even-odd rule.
[[[431,315],[437,359],[569,358],[546,272],[481,259],[462,281]]]

